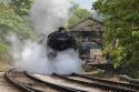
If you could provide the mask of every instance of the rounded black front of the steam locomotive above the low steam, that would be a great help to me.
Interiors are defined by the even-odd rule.
[[[63,51],[67,49],[77,50],[75,38],[63,27],[60,27],[57,31],[48,35],[47,44],[56,51]]]

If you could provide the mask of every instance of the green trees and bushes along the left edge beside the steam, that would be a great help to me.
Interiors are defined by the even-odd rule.
[[[9,44],[7,42],[9,33],[13,32],[20,39],[33,38],[33,30],[28,23],[29,9],[32,2],[33,0],[0,1],[0,62],[9,61]]]

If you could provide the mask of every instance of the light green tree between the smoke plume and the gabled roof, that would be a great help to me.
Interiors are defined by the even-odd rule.
[[[79,21],[89,18],[91,13],[87,9],[81,9],[78,4],[72,12],[72,16],[69,20],[69,28],[78,23]]]

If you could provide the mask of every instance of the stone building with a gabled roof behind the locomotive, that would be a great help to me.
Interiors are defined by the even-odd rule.
[[[70,28],[71,34],[77,38],[79,42],[90,41],[102,43],[103,22],[93,18],[87,18]]]

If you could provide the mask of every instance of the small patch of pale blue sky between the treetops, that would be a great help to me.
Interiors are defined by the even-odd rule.
[[[96,0],[76,0],[77,3],[80,4],[80,7],[91,10],[92,7],[92,2],[95,2]]]

